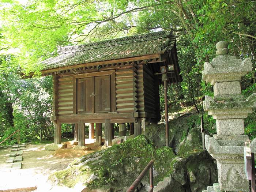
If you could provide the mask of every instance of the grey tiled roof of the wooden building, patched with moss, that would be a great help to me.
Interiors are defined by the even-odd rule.
[[[134,35],[99,41],[83,45],[66,46],[59,49],[59,55],[40,63],[43,70],[106,61],[127,57],[165,52],[172,49],[175,37],[169,31],[159,31],[143,35]]]

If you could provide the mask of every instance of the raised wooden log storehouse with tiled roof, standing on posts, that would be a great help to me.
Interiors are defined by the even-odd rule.
[[[105,124],[106,146],[112,145],[113,123],[133,123],[137,136],[142,122],[160,119],[160,68],[167,69],[169,83],[181,82],[176,39],[168,31],[63,47],[41,65],[43,76],[53,75],[56,144],[62,123],[75,124],[79,146],[85,123],[96,123],[96,142]]]

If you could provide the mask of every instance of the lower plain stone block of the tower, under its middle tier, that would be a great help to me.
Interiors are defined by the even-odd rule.
[[[244,119],[217,119],[216,128],[218,135],[243,135]]]

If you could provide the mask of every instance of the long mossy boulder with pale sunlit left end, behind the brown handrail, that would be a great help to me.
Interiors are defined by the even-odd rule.
[[[156,148],[146,136],[139,135],[120,145],[75,159],[67,169],[55,172],[49,179],[67,187],[74,187],[80,181],[90,190],[126,189],[153,159],[154,184],[157,185],[169,171],[170,159],[174,157],[172,148]],[[147,174],[142,181],[146,188],[148,180]]]

